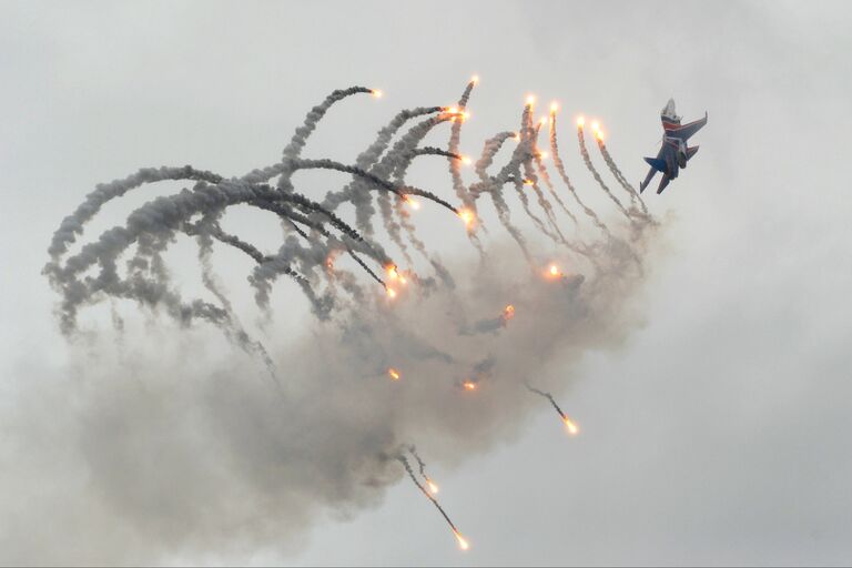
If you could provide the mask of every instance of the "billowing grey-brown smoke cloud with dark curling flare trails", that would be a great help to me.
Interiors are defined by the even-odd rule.
[[[523,183],[525,166],[535,164],[535,141],[521,133],[495,165],[511,136],[505,128],[485,143],[477,179],[466,186],[467,205],[445,200],[458,199],[450,184],[434,193],[413,187],[405,171],[414,156],[439,153],[456,163],[452,149],[419,145],[424,131],[450,118],[434,108],[423,111],[435,113],[428,129],[415,124],[396,138],[402,123],[392,126],[362,163],[302,158],[328,108],[368,91],[336,91],[314,108],[277,164],[231,180],[191,168],[143,170],[99,186],[61,222],[44,274],[59,295],[69,362],[55,379],[23,386],[18,404],[0,415],[0,432],[23,432],[26,424],[29,433],[27,453],[11,444],[17,438],[0,437],[2,564],[152,564],[209,555],[227,562],[244,559],[246,550],[286,551],[313,519],[375,506],[406,474],[424,490],[400,452],[408,440],[428,445],[432,463],[483,452],[535,410],[517,396],[523,377],[535,376],[542,392],[558,395],[576,378],[584,354],[625,342],[638,324],[632,302],[643,284],[636,258],[647,257],[660,225],[639,217],[633,224],[641,230],[610,225],[612,239],[588,245],[589,273],[569,247],[542,246],[535,223],[519,215],[526,223],[515,225],[504,199],[504,186]],[[521,130],[529,128],[525,118]],[[403,284],[398,273],[384,275],[396,266],[393,255],[364,231],[377,213],[362,226],[338,216],[331,201],[307,199],[293,178],[305,169],[348,176],[344,186],[358,191],[343,192],[339,204],[363,194],[387,197],[403,227],[414,226],[400,214],[405,200],[422,197],[446,213],[447,231],[476,233],[479,215],[496,213],[510,239],[484,240],[480,262],[470,262],[471,246],[470,254],[458,251],[440,263],[417,240],[439,277],[418,277],[414,266]],[[160,180],[190,186],[77,243],[105,201]],[[478,203],[486,194],[495,211]],[[225,232],[220,219],[246,205],[280,220],[290,234],[251,243],[240,231]],[[468,207],[476,212],[466,227],[459,216],[466,219]],[[212,300],[184,297],[170,275],[165,253],[182,235],[199,244]],[[399,236],[412,243],[407,230]],[[283,302],[275,321],[253,331],[256,338],[214,274],[219,250],[251,262],[246,288],[262,310]],[[542,274],[545,254],[565,273]],[[273,287],[281,275],[293,288]],[[282,320],[302,296],[315,317],[305,315],[294,331]],[[101,304],[114,305],[123,322],[120,342],[87,325],[90,306]],[[140,317],[140,307],[149,317]],[[168,317],[155,320],[159,314]],[[465,322],[478,323],[466,331]],[[268,381],[267,364],[281,388]],[[388,378],[389,367],[403,378]]]

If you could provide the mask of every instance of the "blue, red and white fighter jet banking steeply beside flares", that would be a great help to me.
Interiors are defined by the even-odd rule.
[[[679,170],[687,166],[689,159],[698,152],[698,146],[688,146],[687,140],[707,124],[707,112],[703,119],[681,125],[680,116],[674,112],[674,99],[669,99],[668,104],[660,112],[660,120],[663,130],[662,148],[657,158],[645,159],[651,170],[645,176],[645,181],[639,184],[639,193],[645,191],[657,172],[662,172],[662,180],[657,187],[657,193],[662,193],[669,182],[678,176]]]

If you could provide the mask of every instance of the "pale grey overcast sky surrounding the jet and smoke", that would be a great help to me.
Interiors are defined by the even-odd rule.
[[[40,271],[52,232],[99,182],[158,164],[242,174],[274,161],[328,91],[378,87],[381,104],[336,115],[336,131],[353,138],[328,132],[312,146],[351,161],[393,112],[448,104],[474,73],[471,153],[486,135],[516,128],[531,92],[560,101],[566,123],[576,113],[600,118],[610,151],[638,182],[641,156],[657,151],[659,111],[674,97],[686,120],[708,111],[709,123],[689,169],[646,200],[666,230],[635,307],[645,324],[620,349],[587,354],[562,398],[582,435],[566,438],[542,404],[505,444],[432,465],[474,544],[466,554],[400,483],[345,519],[326,510],[284,552],[244,560],[849,562],[848,3],[0,9],[0,412],[33,374],[62,373],[68,346]],[[575,178],[592,187],[567,124],[564,136]],[[449,191],[436,170],[423,185]],[[111,211],[97,226],[124,215]],[[453,253],[439,230],[425,234]],[[0,486],[0,516],[13,490]],[[217,558],[215,549],[202,558],[178,550],[165,561]]]

